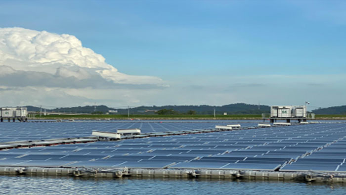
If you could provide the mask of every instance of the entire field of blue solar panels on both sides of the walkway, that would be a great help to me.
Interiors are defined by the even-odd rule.
[[[0,142],[212,129],[239,121],[1,123]],[[240,122],[256,126],[258,121]],[[0,151],[0,166],[346,172],[346,123],[319,123]]]

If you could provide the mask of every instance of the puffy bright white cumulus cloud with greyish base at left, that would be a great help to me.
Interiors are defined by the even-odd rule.
[[[95,87],[93,83],[108,87],[112,84],[113,87],[123,84],[166,86],[157,77],[118,72],[102,55],[83,47],[73,35],[0,28],[0,80],[1,77],[10,79],[11,75],[25,78],[24,82],[31,86],[59,87],[61,83],[61,87],[66,87],[66,82],[62,82],[64,78],[71,82],[82,81],[71,85],[77,88]]]

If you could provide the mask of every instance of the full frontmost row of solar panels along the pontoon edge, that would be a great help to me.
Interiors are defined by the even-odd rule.
[[[196,154],[196,153],[194,153]],[[199,153],[201,154],[201,153]],[[287,164],[289,157],[195,157],[190,155],[139,156],[139,155],[78,155],[78,154],[2,154],[0,165],[4,166],[87,166],[87,167],[133,167],[133,168],[195,168],[195,169],[245,169],[275,170]],[[284,171],[345,171],[344,159],[303,158],[286,165]]]

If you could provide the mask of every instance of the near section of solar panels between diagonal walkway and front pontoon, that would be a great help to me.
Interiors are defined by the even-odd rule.
[[[343,172],[345,138],[345,123],[295,125],[11,149],[0,165]]]

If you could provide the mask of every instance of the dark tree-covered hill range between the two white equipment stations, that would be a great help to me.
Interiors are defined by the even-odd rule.
[[[29,111],[40,111],[40,107],[26,106]],[[223,106],[211,106],[211,105],[165,105],[165,106],[139,106],[130,108],[131,114],[154,114],[157,110],[162,109],[173,109],[177,113],[186,113],[189,110],[196,111],[196,114],[214,114],[214,108],[216,109],[216,114],[261,114],[269,113],[270,107],[267,105],[252,105],[245,103],[234,103]],[[43,108],[44,110],[44,108]],[[70,113],[106,113],[109,110],[117,110],[117,114],[127,114],[128,109],[116,109],[105,105],[97,106],[78,106],[78,107],[62,107],[54,109],[45,109],[47,112],[70,112]]]

